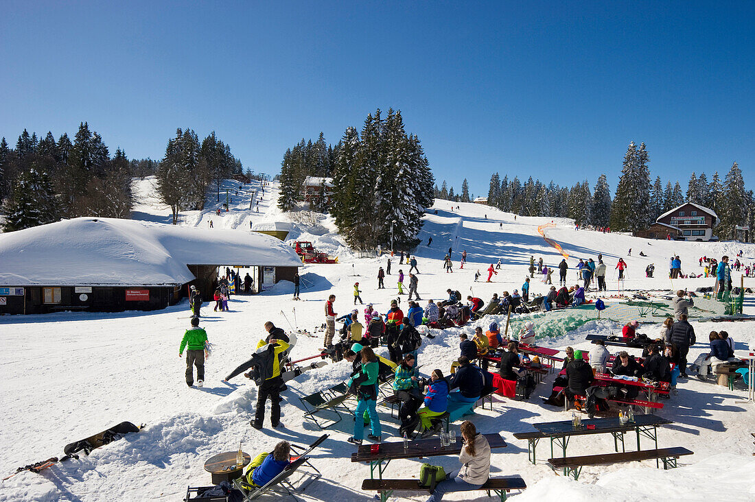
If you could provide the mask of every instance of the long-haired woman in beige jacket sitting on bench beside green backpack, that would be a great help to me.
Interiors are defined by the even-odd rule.
[[[477,432],[469,420],[461,424],[461,440],[464,447],[459,454],[462,465],[457,473],[446,476],[439,482],[427,502],[439,502],[443,495],[451,491],[479,490],[490,476],[490,445],[485,436]]]

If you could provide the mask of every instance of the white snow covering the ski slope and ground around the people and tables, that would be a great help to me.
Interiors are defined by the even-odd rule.
[[[151,180],[135,182],[140,196],[135,217],[169,222],[168,208],[159,207],[150,195]],[[228,182],[235,189],[238,183]],[[220,217],[214,213],[218,204],[205,211],[182,213],[181,224],[249,231],[249,223],[288,220],[294,223],[289,239],[311,240],[316,247],[338,254],[335,265],[307,265],[302,269],[311,286],[303,288],[303,301],[291,300],[291,283],[281,282],[272,291],[253,297],[233,297],[231,311],[214,313],[205,306],[202,326],[214,344],[214,353],[206,365],[206,383],[202,389],[188,388],[183,382],[184,359],[177,356],[183,330],[189,325],[186,302],[152,313],[56,313],[39,316],[0,317],[0,353],[4,410],[0,432],[0,473],[12,473],[16,467],[62,456],[63,445],[82,439],[123,420],[146,423],[142,432],[106,445],[88,457],[57,464],[42,474],[20,473],[0,485],[0,500],[181,500],[187,485],[208,485],[210,478],[202,469],[204,461],[220,451],[233,451],[242,441],[245,451],[254,453],[272,446],[280,439],[295,444],[312,442],[321,434],[310,422],[304,422],[297,399],[338,383],[347,377],[347,362],[328,364],[309,371],[289,383],[284,393],[282,423],[284,430],[254,430],[249,420],[254,414],[256,387],[237,377],[233,384],[220,380],[240,362],[248,359],[257,340],[265,334],[267,320],[289,329],[288,322],[299,328],[314,328],[324,322],[322,310],[329,293],[337,295],[339,314],[353,309],[353,284],[360,283],[362,299],[374,303],[384,313],[396,297],[396,273],[408,266],[393,259],[393,276],[386,280],[387,289],[377,290],[377,267],[385,266],[387,257],[358,258],[342,244],[332,220],[322,217],[312,224],[297,215],[280,214],[276,208],[276,186],[268,186],[260,201],[260,212],[248,210],[252,190],[243,189],[233,196],[230,211]],[[221,197],[224,201],[224,197]],[[212,200],[212,199],[211,199]],[[482,205],[436,201],[438,214],[428,214],[417,250],[422,298],[440,299],[453,288],[463,294],[473,293],[488,300],[492,293],[521,288],[529,266],[529,256],[543,257],[547,265],[556,265],[561,257],[538,234],[538,225],[550,220],[517,217]],[[256,208],[256,201],[254,202]],[[487,218],[485,218],[487,217]],[[502,223],[502,225],[501,225]],[[559,242],[571,255],[569,265],[578,258],[596,258],[602,252],[609,270],[618,257],[628,263],[624,288],[636,290],[670,289],[664,273],[668,258],[679,254],[687,273],[701,270],[698,257],[703,254],[720,258],[733,256],[744,249],[747,263],[755,260],[755,246],[733,243],[686,243],[648,241],[618,234],[575,231],[569,220],[554,220],[556,227],[547,235]],[[433,237],[433,245],[427,239]],[[455,269],[444,273],[442,259],[453,249]],[[632,248],[632,256],[627,251]],[[467,251],[467,265],[459,269],[461,251]],[[639,257],[639,251],[647,257]],[[502,259],[503,268],[492,283],[474,282],[476,269],[485,273],[491,263]],[[655,263],[655,279],[646,279],[647,263]],[[63,265],[61,265],[63,266]],[[305,275],[306,274],[306,275]],[[735,275],[738,282],[738,275]],[[486,275],[482,277],[482,280]],[[572,271],[570,282],[575,279]],[[755,279],[744,279],[746,287],[755,287]],[[576,281],[574,281],[576,282]],[[678,279],[673,288],[694,289],[712,285],[710,279]],[[610,280],[609,294],[617,284]],[[546,286],[537,279],[532,292]],[[745,299],[745,313],[755,314],[755,298]],[[403,303],[403,302],[402,302]],[[424,302],[423,302],[424,303]],[[447,369],[458,356],[458,333],[472,333],[475,325],[487,325],[501,317],[488,317],[464,328],[443,331],[434,340],[425,340],[419,354],[423,373],[432,368]],[[707,340],[711,330],[725,329],[736,341],[738,354],[755,342],[750,322],[695,322],[698,340]],[[540,343],[564,348],[590,348],[587,333],[609,334],[619,326],[614,322],[588,322],[580,328],[554,337],[541,337]],[[655,326],[643,327],[655,334]],[[317,353],[322,346],[317,337],[300,336],[294,359]],[[698,343],[690,360],[705,349]],[[634,352],[637,352],[636,350]],[[746,393],[741,388],[730,392],[726,387],[702,383],[695,379],[680,380],[680,392],[665,402],[663,417],[673,425],[658,433],[660,447],[686,446],[695,451],[680,460],[676,470],[657,470],[655,463],[618,464],[609,467],[586,467],[579,482],[556,476],[543,460],[533,466],[527,460],[526,442],[513,433],[529,429],[529,423],[566,420],[563,411],[541,404],[550,395],[553,374],[537,387],[529,402],[497,398],[494,411],[477,411],[473,421],[484,432],[500,432],[508,447],[492,457],[492,474],[521,475],[529,488],[514,500],[755,500],[755,460],[750,432],[755,432],[755,405],[738,404]],[[398,440],[397,424],[390,414],[381,411],[384,438]],[[268,419],[269,420],[269,419]],[[327,442],[313,458],[322,470],[321,480],[300,495],[304,500],[371,500],[373,494],[362,492],[361,480],[369,475],[364,464],[352,464],[354,447],[346,442],[353,422],[343,420],[330,430]],[[611,436],[584,436],[572,439],[570,454],[613,451]],[[541,445],[539,457],[547,458],[547,445]],[[458,462],[452,457],[434,457],[433,464],[447,470]],[[420,461],[393,461],[388,477],[416,476]],[[6,474],[7,476],[7,474]],[[424,500],[424,497],[413,497]],[[488,500],[485,494],[449,494],[447,500]]]

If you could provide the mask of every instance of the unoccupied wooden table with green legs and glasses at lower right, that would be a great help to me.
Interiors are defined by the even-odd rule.
[[[646,436],[651,439],[658,449],[658,426],[673,423],[667,418],[658,417],[652,414],[635,415],[633,422],[622,424],[618,417],[591,418],[582,420],[580,427],[574,427],[572,420],[562,420],[558,422],[533,423],[532,426],[538,430],[539,434],[522,433],[521,439],[527,439],[528,454],[532,464],[535,464],[535,448],[538,441],[543,438],[550,439],[550,457],[553,457],[553,445],[559,446],[562,450],[563,457],[566,457],[566,447],[569,445],[569,439],[572,436],[587,436],[592,434],[610,433],[614,438],[614,449],[618,451],[618,442],[621,442],[621,451],[625,450],[624,434],[635,431],[637,437],[637,451],[640,450],[639,438]],[[588,428],[587,426],[590,426]],[[514,435],[516,437],[516,434]],[[564,476],[566,475],[564,470]]]

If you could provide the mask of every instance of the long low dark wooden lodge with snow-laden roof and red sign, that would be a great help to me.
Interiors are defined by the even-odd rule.
[[[210,301],[220,267],[251,269],[260,291],[302,266],[260,233],[91,217],[0,234],[0,263],[0,314],[164,309],[190,285]]]

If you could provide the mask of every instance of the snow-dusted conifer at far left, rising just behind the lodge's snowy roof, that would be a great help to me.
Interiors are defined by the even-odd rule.
[[[5,204],[5,232],[52,223],[58,218],[57,202],[47,174],[32,165],[17,177]]]

